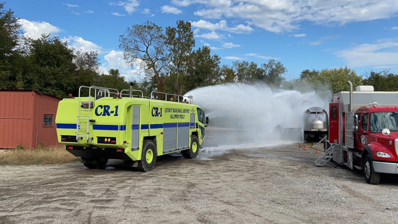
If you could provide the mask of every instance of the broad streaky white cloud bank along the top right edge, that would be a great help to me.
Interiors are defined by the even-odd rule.
[[[192,0],[203,18],[235,18],[271,32],[299,29],[299,23],[343,25],[397,16],[397,0]]]

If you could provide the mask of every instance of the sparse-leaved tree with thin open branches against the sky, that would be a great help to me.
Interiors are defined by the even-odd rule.
[[[132,25],[120,35],[119,41],[127,64],[134,66],[138,63],[147,75],[155,76],[158,91],[163,92],[165,80],[160,74],[167,65],[163,28],[150,21]]]

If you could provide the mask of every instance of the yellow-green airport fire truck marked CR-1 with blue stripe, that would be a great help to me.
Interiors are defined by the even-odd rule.
[[[55,122],[58,141],[86,167],[101,169],[108,159],[121,159],[150,171],[160,155],[196,158],[208,117],[192,96],[152,92],[147,98],[132,87],[119,92],[82,86],[78,97],[60,101]]]

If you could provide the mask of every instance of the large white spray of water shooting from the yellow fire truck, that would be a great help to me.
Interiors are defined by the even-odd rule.
[[[265,84],[208,86],[187,95],[193,95],[194,104],[209,117],[205,147],[300,141],[305,110],[316,106],[328,111],[328,99],[314,91],[300,93]]]

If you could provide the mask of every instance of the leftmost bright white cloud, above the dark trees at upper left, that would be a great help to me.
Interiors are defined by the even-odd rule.
[[[24,31],[23,35],[29,36],[33,39],[39,38],[42,33],[56,34],[61,32],[60,28],[44,21],[29,21],[21,18],[19,19],[19,23],[22,25],[22,29]]]

